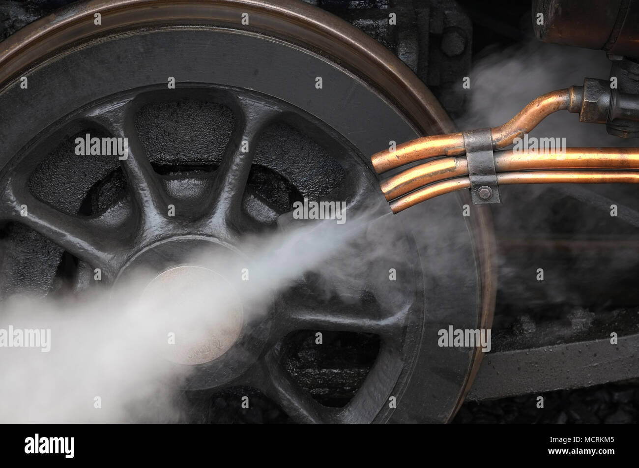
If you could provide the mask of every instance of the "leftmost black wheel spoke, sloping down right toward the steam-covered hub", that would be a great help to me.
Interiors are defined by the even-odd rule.
[[[113,259],[104,228],[95,219],[82,219],[50,207],[25,188],[26,182],[11,180],[3,196],[1,217],[29,226],[93,267],[109,269]],[[93,224],[93,226],[92,226]]]

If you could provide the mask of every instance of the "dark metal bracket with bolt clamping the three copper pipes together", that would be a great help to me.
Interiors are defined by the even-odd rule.
[[[470,196],[475,205],[499,203],[499,187],[495,172],[495,155],[490,129],[463,132]]]

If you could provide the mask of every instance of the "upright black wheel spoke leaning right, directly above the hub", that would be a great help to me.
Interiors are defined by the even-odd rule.
[[[242,198],[249,180],[256,145],[261,131],[279,109],[258,104],[247,97],[238,98],[242,113],[241,123],[226,146],[222,164],[216,173],[212,210],[206,222],[209,226],[237,226]]]

